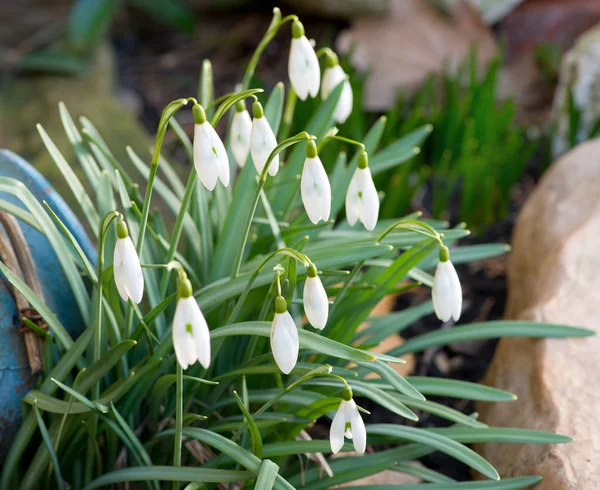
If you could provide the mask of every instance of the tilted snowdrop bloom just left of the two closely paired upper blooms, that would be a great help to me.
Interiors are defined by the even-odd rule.
[[[229,185],[229,158],[225,146],[215,128],[206,119],[200,104],[193,107],[194,113],[194,166],[204,187],[212,191],[220,179]]]

